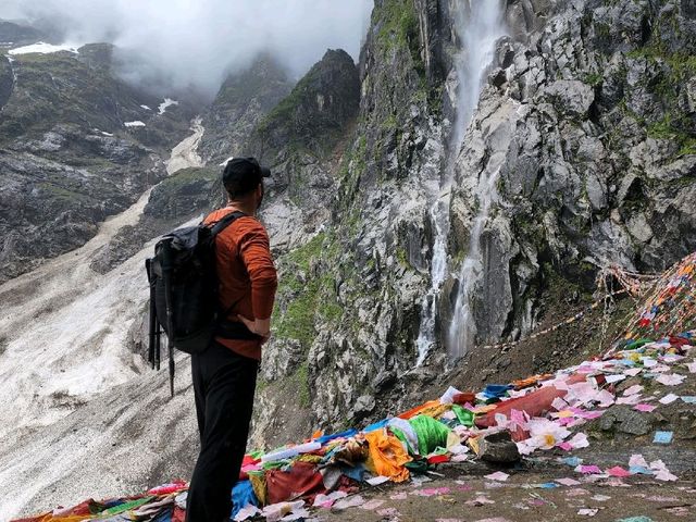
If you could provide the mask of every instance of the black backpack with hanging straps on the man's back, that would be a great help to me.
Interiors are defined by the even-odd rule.
[[[199,224],[177,228],[154,246],[154,257],[145,265],[150,283],[150,331],[148,362],[160,369],[162,327],[167,337],[170,390],[174,396],[173,348],[200,353],[221,333],[221,323],[237,304],[222,310],[217,297],[215,236],[246,215],[236,211],[212,225]],[[227,338],[258,338],[241,323],[227,328]]]

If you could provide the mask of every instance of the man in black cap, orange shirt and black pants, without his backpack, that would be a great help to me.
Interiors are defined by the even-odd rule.
[[[232,511],[231,490],[238,480],[253,409],[261,345],[271,331],[277,278],[269,235],[256,219],[263,199],[263,177],[271,175],[253,158],[234,158],[223,170],[227,206],[204,223],[241,212],[215,238],[220,306],[231,310],[219,335],[191,356],[201,449],[188,490],[186,522],[221,522]]]

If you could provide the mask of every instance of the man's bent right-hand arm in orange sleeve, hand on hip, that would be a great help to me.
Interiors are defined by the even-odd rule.
[[[277,274],[271,256],[269,235],[258,221],[249,220],[249,225],[239,240],[239,254],[251,279],[253,310],[253,318],[239,315],[239,320],[249,331],[268,338],[271,335],[271,313],[277,288]]]

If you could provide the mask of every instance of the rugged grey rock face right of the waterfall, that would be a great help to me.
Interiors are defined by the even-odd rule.
[[[558,3],[548,13],[543,29],[500,42],[498,55],[512,57],[498,58],[459,160],[457,231],[475,215],[476,181],[500,169],[482,243],[505,248],[486,261],[482,284],[496,283],[480,294],[480,341],[533,324],[520,311],[534,310],[539,260],[589,283],[597,266],[659,271],[696,246],[684,199],[696,194],[687,101],[696,64],[679,50],[694,46],[684,36],[696,34],[693,21],[669,1]],[[510,127],[487,128],[505,108]],[[468,246],[452,241],[455,252]]]

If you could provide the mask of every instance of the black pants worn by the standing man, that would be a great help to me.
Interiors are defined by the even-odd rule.
[[[200,455],[186,502],[186,522],[229,519],[232,487],[249,436],[258,361],[214,343],[191,356]]]

